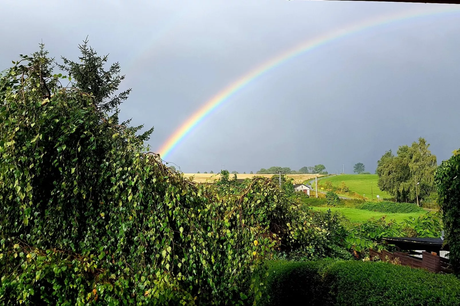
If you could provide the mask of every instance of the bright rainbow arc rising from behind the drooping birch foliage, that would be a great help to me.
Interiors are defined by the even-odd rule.
[[[257,79],[262,74],[265,74],[266,72],[280,66],[282,63],[290,59],[293,59],[294,57],[297,57],[304,52],[311,51],[319,46],[325,45],[328,42],[337,40],[347,35],[356,34],[365,29],[379,27],[385,24],[403,21],[416,17],[426,17],[430,15],[451,12],[460,12],[460,6],[451,6],[447,9],[435,11],[406,11],[391,16],[380,17],[377,20],[367,20],[364,22],[353,24],[346,28],[340,28],[338,30],[323,34],[314,39],[307,40],[306,42],[297,45],[293,49],[285,51],[284,53],[271,58],[267,62],[261,64],[259,67],[242,75],[241,78],[237,79],[234,83],[230,84],[229,86],[224,88],[224,90],[220,91],[217,95],[213,96],[200,109],[198,109],[187,120],[185,120],[184,123],[177,130],[174,131],[173,135],[171,135],[167,139],[167,141],[161,145],[158,151],[161,156],[161,159],[166,159],[167,156],[172,152],[172,150],[175,147],[177,147],[180,144],[180,142],[185,138],[185,136],[187,136],[191,130],[193,130],[200,122],[202,122],[203,119],[205,119],[216,108],[218,108],[219,105],[229,100],[229,98],[233,94],[235,94],[237,91],[240,91],[253,80]]]

